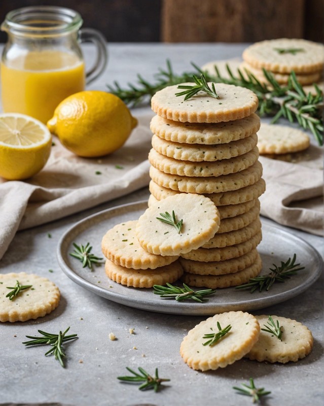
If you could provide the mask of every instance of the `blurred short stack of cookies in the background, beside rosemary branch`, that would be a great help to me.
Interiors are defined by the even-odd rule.
[[[301,85],[318,83],[324,67],[324,46],[301,39],[280,38],[257,42],[243,52],[242,68],[260,81],[266,81],[263,70],[270,71],[282,85],[295,72]]]

